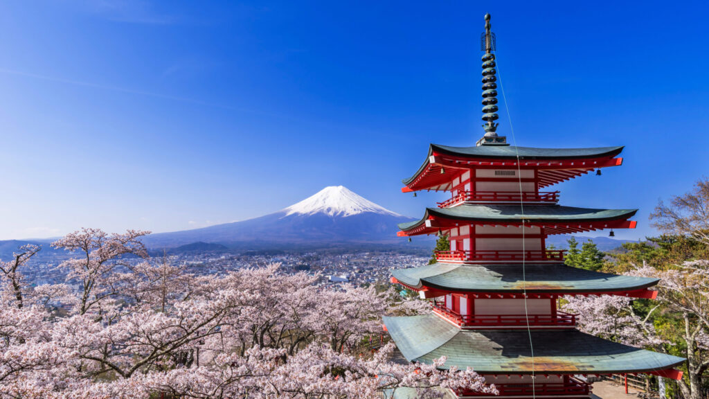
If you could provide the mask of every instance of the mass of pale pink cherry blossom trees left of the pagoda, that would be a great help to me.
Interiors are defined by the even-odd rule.
[[[378,351],[367,344],[381,339],[382,315],[418,312],[422,301],[393,290],[328,288],[319,275],[278,265],[192,275],[170,258],[148,259],[145,234],[82,229],[56,241],[78,255],[59,266],[67,270],[62,284],[26,285],[21,268],[35,248],[2,263],[0,399],[496,393],[470,369],[443,369],[444,358],[397,364],[393,344]],[[68,315],[52,312],[57,301]]]

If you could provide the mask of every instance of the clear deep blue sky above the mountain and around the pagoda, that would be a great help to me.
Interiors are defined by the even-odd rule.
[[[401,179],[482,134],[486,12],[516,143],[627,146],[557,187],[654,234],[708,175],[704,1],[56,0],[0,3],[0,239],[233,222],[328,185],[420,217],[443,195]]]

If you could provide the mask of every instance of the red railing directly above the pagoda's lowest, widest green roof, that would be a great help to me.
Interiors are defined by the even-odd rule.
[[[557,310],[556,315],[461,315],[445,306],[442,301],[433,302],[433,310],[466,327],[501,326],[566,326],[576,325],[576,316]]]

